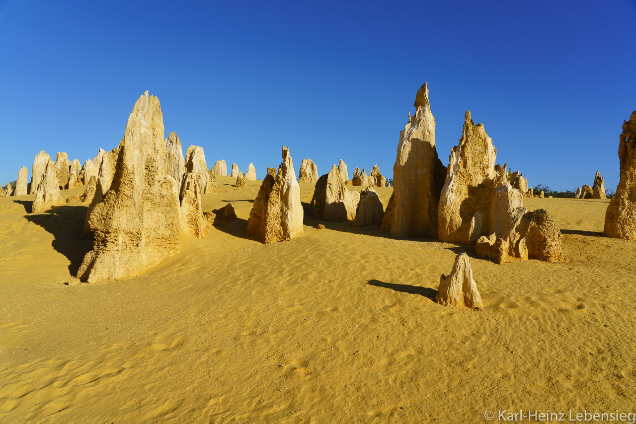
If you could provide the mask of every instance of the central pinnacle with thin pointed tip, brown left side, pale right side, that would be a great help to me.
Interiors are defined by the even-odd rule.
[[[282,149],[282,159],[275,177],[268,168],[249,212],[247,235],[256,236],[263,243],[290,240],[303,233],[300,186],[287,147]]]

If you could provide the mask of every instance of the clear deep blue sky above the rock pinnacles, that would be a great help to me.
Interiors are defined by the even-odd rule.
[[[481,3],[481,4],[480,4]],[[34,155],[116,147],[144,91],[166,137],[259,177],[343,159],[391,177],[429,83],[445,165],[464,112],[530,186],[618,184],[636,109],[634,0],[174,2],[0,0],[0,182]]]

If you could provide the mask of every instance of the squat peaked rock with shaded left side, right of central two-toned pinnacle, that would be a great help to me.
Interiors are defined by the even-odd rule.
[[[322,175],[316,182],[309,214],[324,221],[353,221],[359,200],[360,193],[345,187],[340,170],[333,165],[329,174]]]

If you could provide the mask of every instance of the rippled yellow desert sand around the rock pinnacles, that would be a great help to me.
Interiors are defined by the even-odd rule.
[[[239,219],[137,278],[73,284],[86,208],[0,198],[1,423],[485,422],[487,410],[633,411],[636,244],[607,200],[527,199],[565,263],[497,265],[305,214],[245,237],[260,182],[218,179]],[[68,197],[83,187],[64,191]],[[312,184],[301,184],[303,203]],[[378,189],[387,202],[391,189]],[[485,310],[432,300],[467,250]],[[67,283],[71,282],[71,285]],[[496,418],[495,418],[496,421]]]

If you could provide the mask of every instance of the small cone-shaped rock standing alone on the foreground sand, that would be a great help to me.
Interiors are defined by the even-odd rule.
[[[453,308],[483,309],[483,302],[473,279],[473,268],[467,254],[455,257],[453,271],[448,277],[442,274],[439,279],[438,294],[435,301]]]

